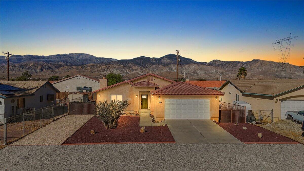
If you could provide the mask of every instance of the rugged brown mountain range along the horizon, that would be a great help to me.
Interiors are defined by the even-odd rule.
[[[247,69],[246,78],[275,78],[277,62],[254,59],[252,61],[194,61],[191,58],[180,57],[180,77],[190,79],[222,79],[236,78],[240,67]],[[117,60],[114,58],[98,58],[90,54],[56,54],[50,56],[14,55],[10,57],[10,74],[21,74],[29,71],[32,75],[76,75],[102,77],[110,72],[120,73],[124,78],[133,78],[149,72],[166,78],[176,78],[176,55],[168,54],[161,58],[140,56],[133,59]],[[6,74],[4,56],[0,56],[0,74]],[[304,78],[303,69],[290,65],[291,76],[294,79]]]

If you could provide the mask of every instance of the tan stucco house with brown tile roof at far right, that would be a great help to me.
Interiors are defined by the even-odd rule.
[[[220,88],[223,102],[244,101],[252,110],[273,110],[274,121],[304,110],[304,79],[229,79]]]

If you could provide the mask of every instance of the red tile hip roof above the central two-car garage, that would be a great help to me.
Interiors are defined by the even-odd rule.
[[[217,90],[203,88],[187,82],[176,82],[160,89],[151,91],[154,95],[219,95],[224,96],[223,92]]]

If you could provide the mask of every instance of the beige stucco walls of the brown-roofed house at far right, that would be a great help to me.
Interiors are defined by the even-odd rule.
[[[304,100],[304,88],[295,89],[275,97],[242,94],[234,86],[228,87],[228,85],[221,91],[225,92],[225,96],[221,97],[223,102],[233,103],[233,101],[235,101],[235,94],[239,94],[239,100],[249,103],[252,110],[273,110],[274,121],[281,119],[282,100]],[[229,94],[229,92],[231,92],[231,94]],[[276,99],[278,99],[278,101]]]

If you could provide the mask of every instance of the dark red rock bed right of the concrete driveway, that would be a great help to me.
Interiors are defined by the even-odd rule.
[[[252,124],[215,123],[244,143],[297,143],[290,138]],[[243,127],[247,127],[247,130],[244,130]],[[258,133],[262,133],[262,138],[257,136]]]

